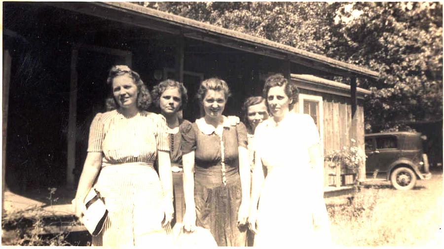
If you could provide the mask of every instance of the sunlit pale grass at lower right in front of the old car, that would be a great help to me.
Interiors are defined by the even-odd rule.
[[[361,186],[351,204],[330,205],[338,246],[442,246],[443,175],[435,172],[408,191],[389,182]]]

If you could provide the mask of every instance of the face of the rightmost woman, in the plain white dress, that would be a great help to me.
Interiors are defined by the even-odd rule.
[[[283,117],[289,111],[289,106],[292,101],[288,98],[284,89],[285,85],[274,86],[268,90],[268,107],[274,117]]]

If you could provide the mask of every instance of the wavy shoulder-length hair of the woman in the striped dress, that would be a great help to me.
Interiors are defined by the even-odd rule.
[[[108,73],[107,84],[112,88],[112,80],[115,77],[122,75],[128,75],[130,78],[132,78],[137,86],[137,89],[139,90],[137,95],[137,107],[140,110],[148,110],[149,106],[151,105],[151,95],[149,95],[148,88],[140,78],[139,73],[132,71],[128,66],[112,66],[110,72]],[[118,104],[113,96],[107,99],[106,106],[108,110],[113,110],[118,107]]]

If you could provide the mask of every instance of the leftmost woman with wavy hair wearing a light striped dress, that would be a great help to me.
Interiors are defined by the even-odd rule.
[[[94,246],[165,245],[162,226],[174,213],[165,119],[146,111],[151,98],[137,72],[113,66],[107,82],[117,108],[98,113],[92,121],[75,213],[82,216],[84,198],[93,187],[108,210]]]

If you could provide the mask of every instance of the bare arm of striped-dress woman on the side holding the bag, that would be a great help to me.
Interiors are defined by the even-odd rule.
[[[102,167],[102,159],[102,152],[88,152],[88,154],[86,155],[82,174],[80,175],[80,179],[78,181],[75,199],[73,200],[75,215],[79,218],[85,210],[85,207],[83,205],[85,197],[94,184],[94,181],[96,180],[97,175],[99,174]]]

